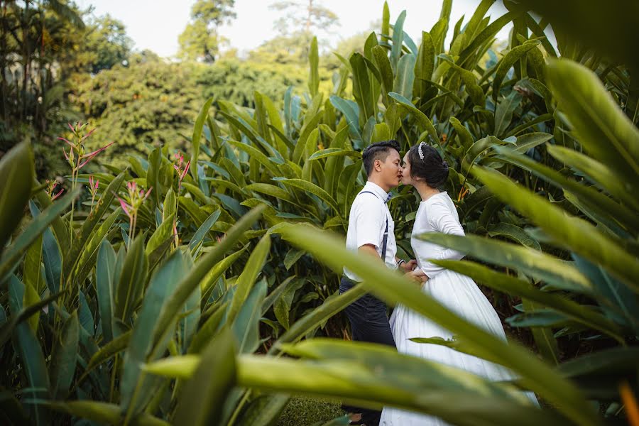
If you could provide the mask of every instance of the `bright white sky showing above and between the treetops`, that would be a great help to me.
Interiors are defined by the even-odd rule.
[[[222,28],[222,35],[230,40],[231,48],[240,53],[258,47],[266,40],[273,38],[273,21],[278,18],[277,11],[268,9],[274,0],[236,0],[237,18],[230,25]],[[178,35],[189,21],[190,9],[194,0],[77,0],[77,4],[85,8],[94,6],[97,16],[109,13],[126,26],[126,33],[135,42],[138,50],[150,49],[163,57],[171,57],[178,51]],[[329,44],[351,35],[368,30],[371,23],[381,21],[383,0],[320,0],[317,3],[337,13],[339,26],[334,27],[334,35]],[[467,23],[480,0],[454,0],[449,36],[454,24],[465,15]],[[421,31],[430,31],[442,7],[441,0],[389,0],[391,23],[399,13],[406,10],[404,31],[419,45]],[[497,1],[488,15],[491,21],[506,13],[506,9]],[[506,38],[510,26],[498,34],[498,38]],[[378,30],[377,30],[378,31]]]

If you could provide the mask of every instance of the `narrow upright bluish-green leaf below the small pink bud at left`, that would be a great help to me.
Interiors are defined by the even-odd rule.
[[[98,308],[102,319],[102,337],[108,343],[114,337],[113,333],[113,289],[114,289],[114,268],[116,264],[116,253],[107,240],[103,240],[98,251],[97,263],[95,266],[95,282],[97,290]]]

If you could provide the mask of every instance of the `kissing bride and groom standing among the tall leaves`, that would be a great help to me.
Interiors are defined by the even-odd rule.
[[[426,232],[464,235],[451,198],[439,191],[448,178],[448,164],[435,148],[424,142],[410,148],[403,160],[399,151],[397,141],[383,141],[373,143],[362,153],[368,182],[351,206],[346,248],[376,256],[388,268],[398,269],[420,283],[422,291],[449,310],[506,340],[497,312],[474,281],[430,262],[431,259],[459,260],[464,255],[417,239]],[[413,186],[421,198],[410,239],[415,259],[408,261],[396,257],[395,222],[386,204],[391,198],[388,192],[400,183]],[[359,280],[344,269],[340,293],[348,291]],[[389,321],[384,302],[373,295],[364,295],[346,307],[346,316],[351,322],[353,340],[393,346],[403,354],[462,368],[492,381],[513,378],[505,368],[475,356],[446,346],[410,341],[414,337],[451,339],[452,333],[402,305],[395,307]],[[537,403],[534,395],[528,396]],[[383,412],[344,408],[354,413],[351,424],[355,425],[445,425],[435,417],[394,408],[384,408]]]

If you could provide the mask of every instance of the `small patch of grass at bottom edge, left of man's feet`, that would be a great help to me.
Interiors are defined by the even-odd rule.
[[[318,422],[321,425],[345,414],[333,400],[294,396],[280,415],[278,426],[311,426]]]

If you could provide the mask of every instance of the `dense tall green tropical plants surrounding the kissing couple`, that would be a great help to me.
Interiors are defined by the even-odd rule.
[[[83,174],[117,144],[84,153],[89,128],[72,126],[61,196],[33,182],[28,143],[9,151],[0,163],[4,422],[273,424],[291,394],[459,425],[636,420],[634,58],[579,43],[579,27],[562,26],[545,1],[532,5],[542,21],[520,3],[491,21],[493,0],[482,1],[452,26],[444,0],[418,43],[403,31],[405,13],[391,24],[385,5],[381,30],[341,58],[332,87],[320,84],[312,40],[304,93],[257,90],[249,105],[214,93],[187,153],[165,143],[124,170]],[[493,52],[510,22],[508,47]],[[388,138],[404,149],[427,141],[448,160],[447,190],[469,235],[422,238],[468,253],[440,263],[514,305],[506,321],[532,330],[537,354],[334,235],[364,184],[361,149]],[[391,201],[403,257],[416,205],[408,188]],[[337,295],[343,266],[365,280]],[[423,344],[489,359],[518,380],[490,383],[344,342],[337,314],[366,291],[457,335],[416,336]]]

